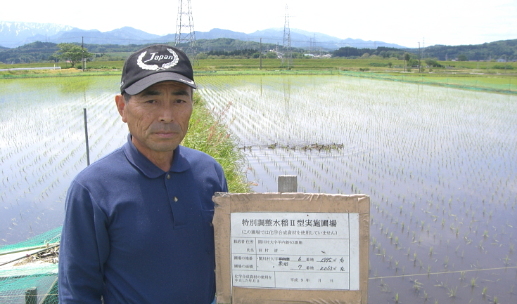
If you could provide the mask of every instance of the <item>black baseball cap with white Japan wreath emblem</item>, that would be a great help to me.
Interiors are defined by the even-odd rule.
[[[155,44],[127,58],[122,70],[120,93],[126,91],[129,95],[136,95],[161,81],[177,81],[198,88],[189,57],[179,48]]]

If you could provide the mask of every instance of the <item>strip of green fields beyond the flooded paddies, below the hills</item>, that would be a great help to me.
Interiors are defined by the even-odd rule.
[[[388,66],[391,62],[391,67]],[[449,86],[468,90],[481,90],[496,93],[517,93],[517,62],[453,62],[440,61],[444,67],[424,67],[424,72],[407,67],[404,61],[391,59],[344,59],[344,58],[311,58],[294,59],[290,69],[287,62],[281,59],[202,59],[194,62],[196,74],[346,74],[354,77],[402,81],[414,84]],[[16,67],[52,67],[58,65],[62,70],[24,70],[0,71],[2,78],[56,77],[79,75],[116,75],[120,74],[124,62],[93,61],[87,63],[85,72],[65,68],[69,63],[52,62],[32,63],[24,65],[0,65],[0,69]],[[488,68],[487,68],[488,67]],[[494,69],[499,67],[499,69]],[[511,68],[510,68],[511,67]]]

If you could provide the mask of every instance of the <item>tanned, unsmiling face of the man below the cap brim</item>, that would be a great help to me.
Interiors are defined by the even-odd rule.
[[[189,127],[192,91],[175,81],[146,88],[129,100],[115,98],[122,121],[127,123],[135,147],[148,159],[172,156]]]

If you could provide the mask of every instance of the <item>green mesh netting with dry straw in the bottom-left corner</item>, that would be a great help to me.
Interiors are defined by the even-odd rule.
[[[4,258],[0,262],[0,303],[58,303],[60,234],[61,227],[57,227],[27,241],[0,247],[0,258]]]

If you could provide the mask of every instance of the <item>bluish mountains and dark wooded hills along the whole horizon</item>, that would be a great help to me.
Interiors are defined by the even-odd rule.
[[[283,45],[283,28],[262,29],[251,34],[211,29],[195,34],[198,51],[205,53],[257,50],[261,38],[264,51]],[[97,29],[84,30],[49,23],[0,21],[0,61],[18,63],[51,60],[50,56],[60,42],[80,44],[83,40],[91,53],[123,53],[136,51],[147,44],[168,43],[174,41],[174,37],[174,34],[149,34],[133,27],[100,32]],[[404,52],[419,53],[418,48],[404,48],[382,41],[339,39],[302,29],[291,29],[291,46],[293,52],[327,51],[343,57],[357,57],[363,53],[400,57]],[[505,56],[507,60],[517,60],[517,39],[467,46],[435,45],[421,48],[420,52],[423,58],[438,60],[455,59],[460,55],[465,55],[467,60],[498,60]]]

